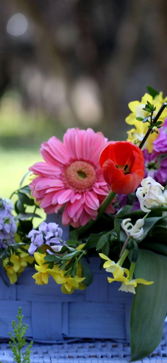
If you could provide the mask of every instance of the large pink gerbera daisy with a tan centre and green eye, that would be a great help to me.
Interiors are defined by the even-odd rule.
[[[62,223],[75,228],[96,219],[110,191],[99,166],[100,152],[107,143],[101,132],[68,129],[63,143],[53,136],[42,144],[45,162],[29,168],[37,175],[30,188],[46,213],[57,213],[64,207]],[[112,204],[107,212],[114,213]]]

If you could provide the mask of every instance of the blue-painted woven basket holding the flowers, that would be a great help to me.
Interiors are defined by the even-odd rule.
[[[85,290],[62,294],[52,277],[48,285],[35,285],[35,270],[26,268],[14,285],[0,279],[0,337],[9,337],[11,321],[21,306],[27,336],[34,340],[63,338],[129,338],[132,295],[118,291],[120,283],[108,284],[100,271],[100,258],[91,259],[94,280]],[[7,277],[6,277],[7,279]]]

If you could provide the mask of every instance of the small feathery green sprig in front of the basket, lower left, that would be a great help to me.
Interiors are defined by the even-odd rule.
[[[17,363],[30,363],[30,353],[33,345],[33,341],[26,347],[25,353],[21,352],[21,349],[26,345],[25,333],[28,325],[22,324],[23,315],[21,315],[21,307],[18,309],[18,324],[13,320],[13,334],[9,333],[11,340],[9,341],[10,347],[13,352],[13,359]]]

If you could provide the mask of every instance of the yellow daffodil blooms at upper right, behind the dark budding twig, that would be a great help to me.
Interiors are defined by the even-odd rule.
[[[144,111],[143,108],[145,108],[145,105],[149,101],[151,104],[154,104],[156,106],[156,110],[154,111],[153,117],[157,114],[160,107],[162,106],[163,102],[167,101],[167,97],[163,99],[163,93],[160,92],[158,95],[153,97],[145,93],[145,95],[142,97],[141,102],[139,101],[132,101],[129,102],[129,109],[131,111],[130,115],[126,117],[125,121],[129,125],[134,125],[135,129],[131,129],[128,131],[128,141],[131,141],[133,143],[136,143],[139,145],[139,143],[142,141],[143,137],[145,136],[149,123],[143,123],[142,121],[137,121],[136,117],[147,117],[150,115],[147,111]],[[167,108],[162,112],[162,114],[159,117],[159,121],[164,121],[167,117]],[[146,141],[145,147],[149,152],[153,150],[153,141],[157,138],[158,134],[156,132],[153,132],[153,134],[149,135],[149,138]]]

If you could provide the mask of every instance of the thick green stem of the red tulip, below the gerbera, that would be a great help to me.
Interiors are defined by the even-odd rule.
[[[102,216],[102,214],[105,212],[105,210],[107,209],[108,205],[111,203],[115,195],[116,193],[112,192],[112,190],[109,192],[107,197],[103,200],[103,203],[101,203],[100,208],[98,209],[96,220],[90,219],[87,224],[77,229],[79,236],[84,232],[86,232]]]

